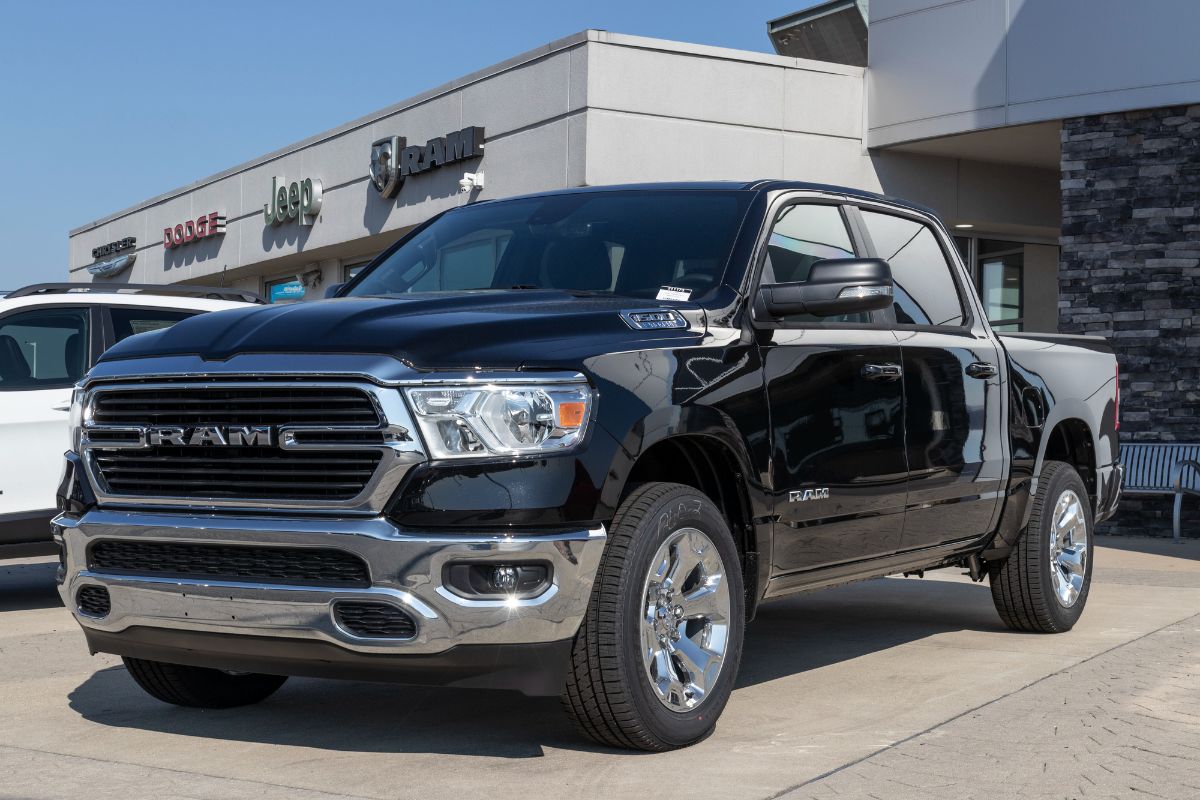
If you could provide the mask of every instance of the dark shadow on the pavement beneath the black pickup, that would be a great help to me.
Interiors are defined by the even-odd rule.
[[[955,630],[1002,627],[985,585],[882,579],[764,607],[746,636],[738,686],[836,664]],[[737,703],[734,692],[732,703]],[[187,736],[318,747],[535,758],[551,746],[606,752],[577,734],[554,698],[293,679],[264,703],[232,710],[164,705],[121,667],[90,675],[70,697],[91,722]]]

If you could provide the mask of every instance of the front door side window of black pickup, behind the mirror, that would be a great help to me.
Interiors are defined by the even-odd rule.
[[[790,205],[785,207],[767,240],[762,284],[803,283],[817,261],[827,258],[854,258],[854,245],[836,205]],[[816,317],[788,314],[785,323],[869,323],[870,312]]]

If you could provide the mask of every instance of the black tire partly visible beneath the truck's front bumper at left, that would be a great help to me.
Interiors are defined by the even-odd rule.
[[[205,667],[185,667],[162,661],[121,658],[138,686],[151,697],[193,709],[232,709],[251,705],[275,693],[284,675],[227,673]]]

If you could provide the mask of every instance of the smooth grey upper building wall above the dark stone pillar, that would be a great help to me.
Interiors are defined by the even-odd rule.
[[[1200,102],[1195,0],[871,0],[869,142]]]

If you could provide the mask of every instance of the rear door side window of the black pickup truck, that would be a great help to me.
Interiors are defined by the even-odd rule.
[[[962,300],[932,228],[890,213],[860,211],[875,252],[892,265],[896,323],[964,325]]]

